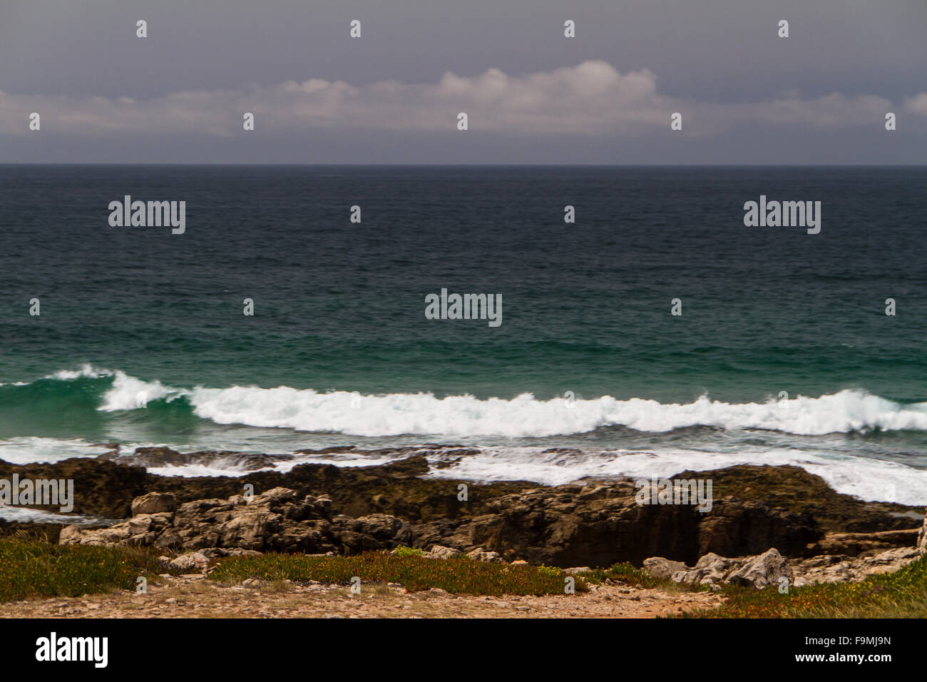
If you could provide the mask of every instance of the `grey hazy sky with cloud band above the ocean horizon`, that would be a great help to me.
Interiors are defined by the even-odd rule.
[[[0,0],[0,162],[922,164],[925,35],[927,0]]]

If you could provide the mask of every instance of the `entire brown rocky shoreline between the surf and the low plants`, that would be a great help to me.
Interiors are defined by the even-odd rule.
[[[699,472],[714,482],[714,504],[703,513],[690,505],[642,506],[627,480],[543,486],[429,478],[432,465],[413,454],[421,448],[408,450],[376,451],[405,457],[373,467],[301,464],[287,472],[208,478],[158,476],[130,465],[222,459],[264,467],[277,456],[138,448],[131,457],[0,461],[3,478],[73,479],[77,514],[125,519],[101,527],[0,521],[0,534],[207,558],[266,551],[351,555],[400,546],[434,552],[437,546],[477,560],[560,568],[629,561],[657,577],[713,587],[775,585],[783,578],[789,585],[860,580],[915,560],[925,545],[922,508],[863,502],[796,467]],[[686,471],[676,478],[695,476]]]

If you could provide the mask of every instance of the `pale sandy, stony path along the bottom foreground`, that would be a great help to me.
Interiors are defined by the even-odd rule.
[[[81,598],[0,604],[2,618],[653,618],[720,603],[709,593],[591,585],[587,594],[476,597],[400,586],[222,586],[203,575],[162,576],[147,594],[129,591]]]

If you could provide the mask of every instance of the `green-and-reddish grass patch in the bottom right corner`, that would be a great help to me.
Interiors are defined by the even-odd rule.
[[[694,611],[690,618],[927,618],[927,559],[895,573],[870,575],[858,583],[792,587],[727,587],[716,609]]]

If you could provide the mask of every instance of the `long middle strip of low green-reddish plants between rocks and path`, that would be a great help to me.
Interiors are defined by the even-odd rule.
[[[398,583],[410,592],[432,587],[452,594],[549,595],[564,594],[566,574],[560,569],[484,563],[466,557],[426,559],[415,552],[365,552],[353,557],[312,557],[301,554],[263,554],[219,560],[210,580],[238,584],[248,578],[263,581],[318,581],[348,585],[357,576],[363,584]],[[576,580],[577,592],[587,586]]]

